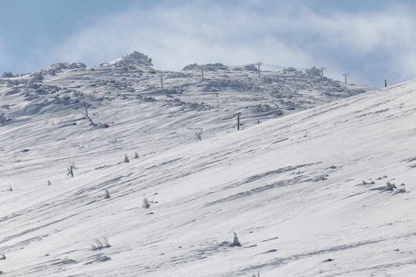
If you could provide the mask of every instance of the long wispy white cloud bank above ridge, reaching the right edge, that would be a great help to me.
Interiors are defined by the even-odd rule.
[[[412,78],[414,70],[409,67],[413,65],[406,57],[415,53],[416,20],[406,6],[320,14],[299,3],[237,3],[219,6],[197,1],[132,8],[77,30],[52,51],[47,49],[44,59],[94,65],[138,50],[167,69],[193,62],[247,64],[260,60],[284,66],[326,66],[363,75],[366,66],[362,63],[371,56],[382,74],[403,71],[400,78]]]

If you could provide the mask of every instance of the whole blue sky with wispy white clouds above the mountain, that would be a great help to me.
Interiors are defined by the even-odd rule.
[[[412,0],[0,0],[0,74],[139,51],[169,70],[261,61],[380,88],[416,79],[415,13]]]

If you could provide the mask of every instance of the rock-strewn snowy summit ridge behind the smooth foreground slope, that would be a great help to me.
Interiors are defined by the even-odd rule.
[[[251,125],[373,90],[321,78],[316,68],[305,72],[294,68],[262,71],[260,78],[254,64],[235,67],[211,63],[204,65],[204,70],[204,78],[197,64],[182,71],[162,70],[153,66],[147,55],[135,51],[93,67],[56,63],[25,75],[8,72],[0,78],[0,112],[17,119],[80,109],[85,101],[96,108],[113,100],[125,103],[137,99],[155,102],[158,113],[200,111],[195,116],[210,121],[204,127],[216,129],[230,126],[224,117],[237,111]],[[162,80],[159,74],[163,74]]]

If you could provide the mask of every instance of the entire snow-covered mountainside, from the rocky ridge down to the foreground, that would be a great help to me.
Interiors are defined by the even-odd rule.
[[[267,83],[254,72],[230,70],[252,76],[244,84],[262,88],[259,96],[253,88],[205,91],[207,82],[239,80],[213,71],[202,83],[195,75],[168,79],[169,90],[174,82],[182,84],[176,92],[187,88],[174,101],[173,93],[152,87],[158,77],[151,77],[151,65],[128,72],[114,72],[111,64],[79,67],[33,82],[61,88],[52,94],[29,91],[28,76],[1,85],[11,116],[0,127],[4,276],[415,274],[416,81],[331,96],[336,101],[311,109],[303,103],[305,110],[273,119],[244,105],[273,101],[276,80],[284,80],[285,95],[296,88],[287,78],[311,87],[330,81],[268,72]],[[327,101],[317,87],[312,93],[316,104]],[[59,100],[49,98],[57,94]],[[89,99],[95,124],[83,117],[77,97]],[[182,100],[194,97],[194,105]],[[232,128],[236,111],[241,131]],[[255,124],[258,118],[268,120]],[[240,247],[229,245],[233,232]],[[102,236],[111,247],[92,251]]]

